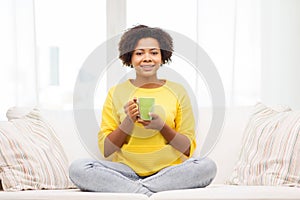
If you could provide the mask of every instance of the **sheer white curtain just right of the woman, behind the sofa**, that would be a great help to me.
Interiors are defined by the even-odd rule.
[[[227,106],[251,105],[260,98],[260,4],[198,1],[198,43],[219,71]]]

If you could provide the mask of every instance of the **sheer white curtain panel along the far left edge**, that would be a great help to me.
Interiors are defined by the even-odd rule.
[[[0,120],[37,103],[33,0],[0,1]]]

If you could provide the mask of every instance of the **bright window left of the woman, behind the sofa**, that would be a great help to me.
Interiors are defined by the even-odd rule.
[[[106,40],[106,2],[35,1],[39,103],[72,108],[83,62]]]

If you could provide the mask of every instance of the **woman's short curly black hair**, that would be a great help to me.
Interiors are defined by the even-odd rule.
[[[171,61],[173,39],[169,33],[160,28],[138,25],[128,29],[122,35],[119,42],[119,58],[122,60],[123,65],[133,67],[131,64],[133,51],[138,41],[143,38],[154,38],[158,41],[162,56],[162,64]]]

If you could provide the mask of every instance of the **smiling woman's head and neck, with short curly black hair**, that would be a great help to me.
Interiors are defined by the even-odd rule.
[[[173,40],[160,28],[139,25],[125,32],[119,44],[123,65],[135,68],[136,78],[131,83],[136,87],[159,87],[165,80],[157,78],[157,70],[171,61]]]

